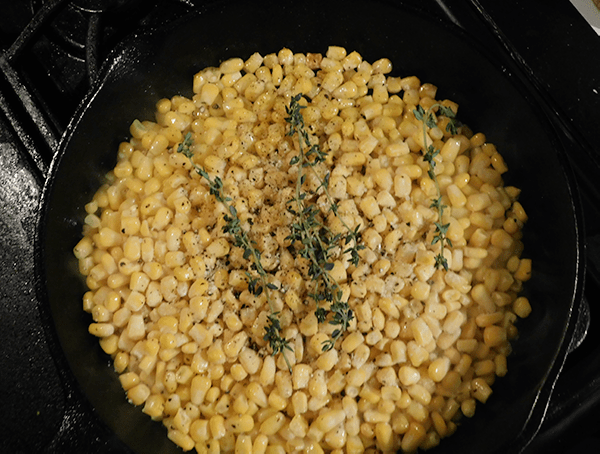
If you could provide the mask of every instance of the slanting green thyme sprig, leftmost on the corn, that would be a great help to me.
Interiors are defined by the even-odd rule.
[[[198,175],[204,178],[209,185],[209,192],[215,197],[218,202],[221,202],[228,214],[224,215],[226,224],[223,226],[223,232],[228,233],[233,237],[233,244],[236,247],[242,248],[244,251],[244,259],[251,260],[251,269],[256,272],[258,277],[251,273],[246,273],[248,278],[248,291],[254,296],[260,296],[263,291],[269,305],[270,314],[267,316],[267,326],[265,327],[265,335],[263,339],[269,343],[273,356],[281,353],[285,360],[288,369],[292,370],[292,366],[285,355],[285,351],[293,351],[290,342],[281,336],[281,322],[279,320],[279,312],[275,311],[273,300],[270,295],[270,290],[278,290],[278,287],[267,279],[267,272],[261,263],[261,253],[256,248],[256,242],[252,240],[248,232],[242,228],[242,223],[237,215],[236,208],[230,204],[232,199],[227,197],[223,191],[223,181],[217,176],[214,179],[210,177],[208,172],[201,166],[197,165],[193,160],[194,153],[191,149],[193,145],[192,134],[188,132],[185,135],[183,142],[177,147],[177,152],[182,153],[189,158],[194,170]]]

